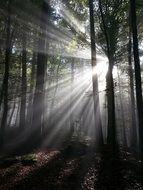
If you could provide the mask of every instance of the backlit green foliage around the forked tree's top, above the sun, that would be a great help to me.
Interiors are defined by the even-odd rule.
[[[125,42],[127,43],[128,35],[128,1],[108,1],[102,0],[102,12],[105,22],[103,26],[99,8],[97,8],[97,43],[102,47],[103,52],[107,55],[107,43],[105,39],[105,29],[108,37],[110,54],[116,60],[122,55]]]

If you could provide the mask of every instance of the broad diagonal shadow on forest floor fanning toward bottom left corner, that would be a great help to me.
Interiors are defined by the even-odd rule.
[[[79,190],[81,181],[92,164],[90,158],[87,160],[87,149],[88,147],[78,143],[68,146],[50,162],[29,173],[10,189]]]

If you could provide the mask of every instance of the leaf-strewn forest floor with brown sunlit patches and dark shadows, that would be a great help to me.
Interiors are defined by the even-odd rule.
[[[143,165],[120,149],[113,159],[105,146],[73,141],[65,148],[0,159],[0,190],[141,190]]]

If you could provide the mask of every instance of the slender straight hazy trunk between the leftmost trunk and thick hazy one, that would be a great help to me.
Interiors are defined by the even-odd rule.
[[[26,91],[27,91],[27,80],[26,80],[26,32],[22,34],[22,81],[21,81],[21,107],[20,107],[20,129],[25,128],[26,120]]]

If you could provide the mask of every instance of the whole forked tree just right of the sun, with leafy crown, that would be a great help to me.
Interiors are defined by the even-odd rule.
[[[101,31],[105,37],[105,47],[103,48],[109,60],[108,72],[106,75],[107,84],[107,103],[108,103],[108,132],[107,143],[112,146],[116,145],[116,121],[115,121],[115,97],[114,97],[114,81],[113,81],[113,66],[115,61],[115,52],[117,46],[117,36],[119,29],[119,21],[117,18],[117,7],[120,1],[108,4],[99,0],[99,11],[101,15]],[[110,7],[111,6],[111,7]],[[112,11],[109,11],[109,10]],[[104,10],[104,11],[103,11]]]

